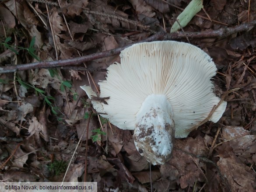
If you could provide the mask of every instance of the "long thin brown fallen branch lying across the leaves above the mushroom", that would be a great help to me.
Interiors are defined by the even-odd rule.
[[[241,31],[249,31],[255,26],[256,26],[256,21],[251,21],[249,23],[240,24],[235,27],[221,28],[218,30],[209,30],[209,31],[200,31],[200,32],[178,31],[175,33],[160,32],[140,42],[174,40],[174,39],[182,39],[186,37],[187,38],[224,38]],[[55,67],[79,65],[80,63],[83,63],[83,62],[116,55],[123,49],[129,47],[130,45],[127,45],[125,47],[120,47],[117,49],[111,49],[109,51],[94,53],[87,56],[76,57],[72,59],[64,59],[64,60],[57,60],[57,61],[50,61],[50,62],[42,61],[37,63],[28,63],[28,64],[15,65],[15,66],[14,65],[3,66],[3,67],[0,67],[0,73],[12,73],[19,70],[31,70],[31,69],[37,69],[37,68],[55,68]]]

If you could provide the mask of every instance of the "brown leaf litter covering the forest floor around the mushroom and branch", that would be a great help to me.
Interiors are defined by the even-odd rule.
[[[169,32],[189,2],[71,0],[56,5],[6,0],[0,3],[0,38],[11,40],[9,46],[0,44],[1,66],[98,53],[143,40],[149,31]],[[232,27],[256,19],[255,1],[210,0],[203,7],[182,30],[221,29],[221,23]],[[74,154],[65,181],[84,181],[88,137],[86,178],[98,182],[98,191],[150,191],[150,179],[152,190],[159,192],[256,190],[255,37],[255,28],[249,28],[227,38],[189,39],[217,65],[216,94],[240,89],[225,99],[228,106],[218,123],[207,122],[187,138],[177,139],[172,159],[161,166],[151,166],[140,156],[133,132],[96,114],[88,119],[94,111],[79,86],[90,84],[98,92],[105,72],[97,70],[119,62],[119,56],[82,63],[81,67],[95,69],[90,73],[75,66],[1,74],[0,179],[60,182],[64,173],[56,176],[49,166],[69,162]]]

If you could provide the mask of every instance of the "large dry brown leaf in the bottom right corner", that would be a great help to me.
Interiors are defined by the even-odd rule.
[[[221,175],[227,179],[231,191],[252,192],[255,190],[253,186],[256,186],[256,174],[235,155],[231,154],[227,158],[220,157],[217,166]]]

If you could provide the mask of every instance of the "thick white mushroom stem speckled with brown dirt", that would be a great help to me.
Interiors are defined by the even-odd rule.
[[[151,164],[165,164],[171,158],[175,123],[172,107],[165,95],[147,96],[136,115],[134,143]]]

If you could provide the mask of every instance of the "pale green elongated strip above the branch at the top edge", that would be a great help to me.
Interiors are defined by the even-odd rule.
[[[192,0],[188,6],[177,17],[177,21],[172,25],[171,33],[180,29],[179,24],[185,27],[189,21],[203,8],[203,0]]]

